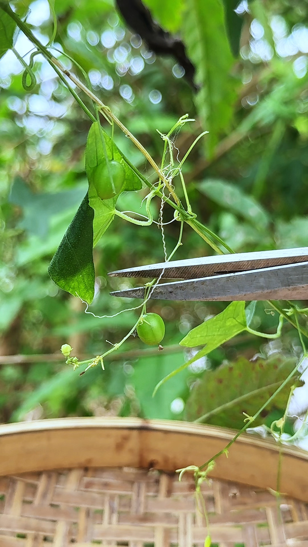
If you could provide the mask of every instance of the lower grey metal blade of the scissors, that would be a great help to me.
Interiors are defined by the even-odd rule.
[[[145,289],[118,290],[113,296],[144,298]],[[158,284],[151,299],[161,300],[307,300],[308,261],[266,269]]]

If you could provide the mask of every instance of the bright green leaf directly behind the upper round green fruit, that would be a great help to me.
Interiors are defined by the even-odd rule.
[[[109,228],[113,218],[115,218],[115,206],[118,196],[113,197],[110,200],[101,200],[96,194],[96,190],[93,184],[93,171],[94,168],[104,161],[104,147],[102,145],[102,138],[105,140],[106,152],[109,160],[113,159],[121,163],[126,172],[125,183],[122,188],[123,191],[140,190],[142,183],[136,176],[135,172],[122,158],[122,154],[119,152],[116,144],[112,139],[102,130],[100,133],[98,123],[95,122],[90,127],[90,131],[87,139],[87,146],[85,148],[85,171],[89,181],[89,205],[94,210],[93,221],[93,246],[100,240],[104,232]]]

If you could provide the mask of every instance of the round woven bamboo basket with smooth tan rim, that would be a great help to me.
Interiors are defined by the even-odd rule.
[[[0,547],[308,547],[308,453],[242,435],[220,456],[198,509],[192,476],[227,429],[135,418],[0,426]]]

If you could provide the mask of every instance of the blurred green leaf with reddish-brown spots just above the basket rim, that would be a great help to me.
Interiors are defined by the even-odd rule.
[[[295,366],[294,359],[272,357],[251,362],[241,357],[235,363],[206,371],[192,388],[187,400],[186,418],[215,426],[241,429],[243,412],[253,416],[271,397]],[[286,408],[292,378],[266,407],[266,415],[274,408]],[[253,426],[264,422],[265,414]],[[202,418],[202,419],[201,419]]]

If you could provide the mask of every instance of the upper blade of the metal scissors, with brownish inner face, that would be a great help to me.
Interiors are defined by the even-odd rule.
[[[270,266],[281,266],[308,261],[308,247],[260,251],[254,253],[224,254],[215,257],[201,257],[187,260],[173,260],[117,270],[112,277],[164,277],[168,279],[195,279],[217,276],[229,272],[250,271]]]

